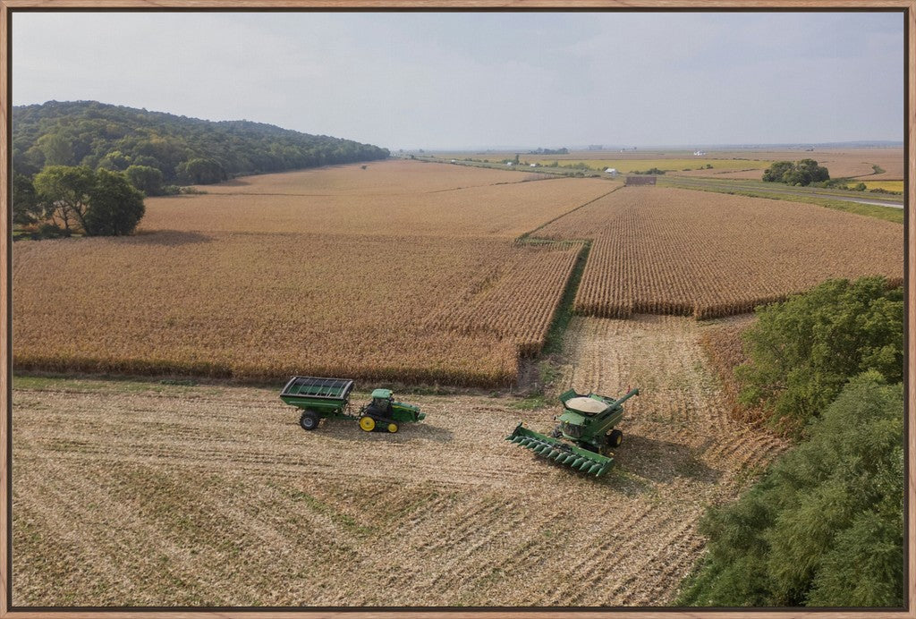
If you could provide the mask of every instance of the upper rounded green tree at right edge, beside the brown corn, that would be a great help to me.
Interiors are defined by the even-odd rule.
[[[736,370],[741,400],[792,432],[834,400],[849,376],[903,378],[903,290],[883,277],[824,282],[758,308],[745,333],[750,361]]]

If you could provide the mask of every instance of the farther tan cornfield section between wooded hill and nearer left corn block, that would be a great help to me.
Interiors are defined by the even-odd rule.
[[[305,171],[270,175],[272,179],[254,177],[252,185],[246,186],[208,185],[205,195],[147,199],[147,214],[139,230],[316,233],[340,235],[344,241],[353,234],[403,233],[514,239],[622,184],[601,179],[519,182],[529,174],[408,161],[374,163],[366,170],[348,166],[330,171],[335,179],[346,174],[359,178],[376,168],[381,168],[379,174],[383,175],[389,166],[392,179],[381,182],[379,190],[365,185],[358,192],[350,187],[341,193],[327,193],[325,185],[332,181]],[[422,173],[413,176],[405,173],[405,168]],[[453,170],[458,172],[459,180],[451,179]],[[463,188],[451,186],[453,182],[470,184],[470,180],[463,179],[467,172],[480,172],[481,180],[477,182],[489,182],[493,175],[503,181]],[[424,174],[430,179],[423,179]],[[389,184],[398,179],[404,183],[423,180],[417,186],[404,184],[400,193],[393,194]],[[270,186],[272,180],[278,186]],[[361,178],[359,181],[367,182]],[[252,191],[254,186],[259,191]],[[431,190],[431,186],[440,189]]]

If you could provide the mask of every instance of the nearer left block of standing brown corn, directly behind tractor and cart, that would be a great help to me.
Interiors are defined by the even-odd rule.
[[[579,249],[306,233],[16,244],[14,364],[507,385]]]

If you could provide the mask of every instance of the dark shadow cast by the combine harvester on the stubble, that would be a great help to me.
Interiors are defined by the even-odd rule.
[[[716,483],[722,477],[721,471],[707,466],[686,445],[633,434],[624,437],[614,459],[620,469],[656,483],[670,483],[678,477]]]

